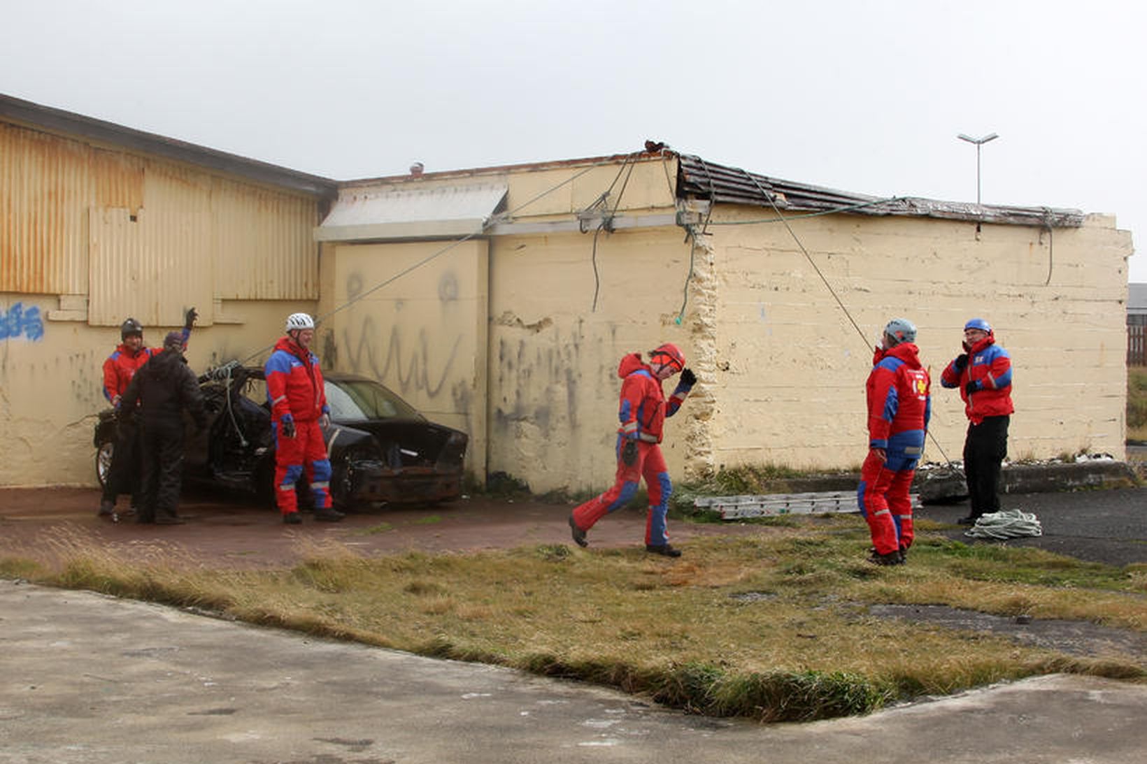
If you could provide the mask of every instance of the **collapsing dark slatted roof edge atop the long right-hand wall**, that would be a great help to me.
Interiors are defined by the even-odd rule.
[[[1079,210],[1050,206],[1006,206],[943,202],[919,196],[879,197],[852,194],[758,176],[739,167],[705,162],[688,154],[679,154],[678,157],[678,196],[697,196],[718,204],[772,208],[775,202],[778,209],[799,212],[835,210],[846,215],[899,215],[1054,228],[1078,228],[1085,217]]]

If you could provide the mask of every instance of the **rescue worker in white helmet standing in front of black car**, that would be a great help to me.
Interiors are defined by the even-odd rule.
[[[264,366],[271,422],[275,431],[275,502],[283,522],[298,524],[295,484],[306,475],[314,499],[314,519],[343,519],[330,501],[330,459],[322,430],[330,423],[330,407],[322,385],[318,357],[311,352],[314,319],[306,313],[287,317],[287,336],[280,337]]]

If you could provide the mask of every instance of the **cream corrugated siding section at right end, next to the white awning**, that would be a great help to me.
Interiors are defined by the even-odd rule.
[[[211,194],[214,290],[224,299],[317,299],[314,198],[217,178]]]

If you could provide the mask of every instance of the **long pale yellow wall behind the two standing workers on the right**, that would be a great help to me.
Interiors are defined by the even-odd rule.
[[[718,212],[718,223],[767,217]],[[1013,358],[1011,458],[1083,450],[1123,458],[1121,301],[1131,237],[1115,229],[1114,219],[1092,216],[1083,228],[1051,235],[998,225],[977,234],[974,223],[860,216],[796,219],[793,229],[860,332],[783,226],[711,226],[719,274],[715,466],[858,465],[871,348],[895,317],[918,325],[922,360],[934,375],[936,439],[926,460],[961,458],[962,404],[938,377],[960,352],[962,326],[973,317],[992,325]]]

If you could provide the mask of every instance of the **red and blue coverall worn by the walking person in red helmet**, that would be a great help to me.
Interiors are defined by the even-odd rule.
[[[617,475],[612,488],[574,509],[574,522],[582,530],[590,530],[607,513],[629,504],[637,494],[641,478],[645,478],[649,493],[646,544],[664,546],[669,544],[665,513],[669,509],[669,497],[673,491],[673,484],[669,480],[669,467],[658,444],[662,441],[665,418],[677,413],[693,385],[679,382],[666,403],[661,380],[654,376],[653,369],[647,364],[641,361],[641,353],[630,353],[622,358],[617,376],[624,380],[617,411],[617,418],[621,420],[615,446]],[[629,465],[623,458],[626,443],[637,446],[637,458]]]

